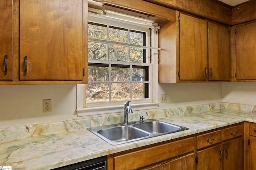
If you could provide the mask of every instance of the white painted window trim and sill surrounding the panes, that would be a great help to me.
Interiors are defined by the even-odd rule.
[[[94,20],[90,20],[90,18],[97,18],[97,20],[107,20],[106,17],[100,16],[97,14],[90,14],[88,13],[88,21],[95,22]],[[115,19],[108,19],[110,21]],[[124,24],[127,24],[127,22],[124,22]],[[134,25],[136,27],[135,23],[128,23],[129,25]],[[117,27],[120,27],[117,25]],[[148,27],[148,26],[147,26]],[[152,67],[149,69],[149,75],[150,75],[150,89],[149,89],[149,96],[150,99],[145,99],[146,103],[138,103],[140,100],[133,100],[130,102],[130,106],[132,107],[133,111],[142,111],[142,110],[151,110],[156,109],[158,107],[158,28],[157,27],[151,27],[152,28]],[[113,105],[113,106],[101,106],[101,107],[84,107],[85,102],[85,84],[77,84],[77,106],[76,106],[76,113],[77,116],[85,116],[85,117],[92,117],[92,116],[102,116],[102,115],[114,115],[114,114],[122,114],[124,111],[124,103],[126,101],[121,101],[122,104],[120,105]],[[142,99],[143,100],[143,99]],[[137,101],[137,102],[135,102]],[[120,103],[120,102],[119,102]]]

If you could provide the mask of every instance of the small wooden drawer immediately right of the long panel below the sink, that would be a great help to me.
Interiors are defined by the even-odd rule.
[[[222,141],[221,130],[197,136],[197,149],[208,147]]]

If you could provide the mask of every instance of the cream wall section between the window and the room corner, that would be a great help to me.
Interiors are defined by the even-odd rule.
[[[222,102],[222,83],[160,83],[158,91],[167,94],[158,109]]]

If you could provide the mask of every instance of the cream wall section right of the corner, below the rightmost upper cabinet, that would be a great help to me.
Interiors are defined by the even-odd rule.
[[[222,101],[256,105],[256,82],[229,82],[222,84]]]

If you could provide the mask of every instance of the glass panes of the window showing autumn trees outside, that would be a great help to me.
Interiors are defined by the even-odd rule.
[[[148,88],[145,88],[145,84],[148,84],[148,82],[144,81],[149,80],[149,65],[134,66],[131,64],[117,65],[111,63],[111,61],[146,63],[147,49],[132,47],[132,45],[146,45],[146,33],[108,25],[106,30],[107,41],[129,43],[131,45],[105,44],[105,42],[101,43],[100,41],[97,43],[93,37],[90,37],[94,40],[93,42],[88,40],[88,44],[90,44],[88,45],[88,59],[106,60],[110,61],[110,63],[108,67],[106,64],[100,64],[99,62],[97,64],[88,63],[86,102],[110,102],[148,98]],[[92,66],[89,66],[90,64]],[[91,75],[89,75],[89,72]]]

